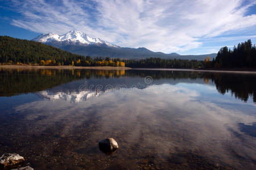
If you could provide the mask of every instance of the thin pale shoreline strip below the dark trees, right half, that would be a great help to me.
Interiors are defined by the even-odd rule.
[[[236,73],[236,74],[256,74],[256,70],[207,70],[207,69],[139,69],[133,70],[158,70],[158,71],[194,71],[194,72],[210,72],[210,73]]]

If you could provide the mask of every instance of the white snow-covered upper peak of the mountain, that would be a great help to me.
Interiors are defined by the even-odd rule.
[[[33,41],[42,42],[45,44],[60,44],[60,45],[106,45],[110,47],[118,47],[104,40],[93,38],[81,31],[69,31],[63,35],[57,33],[42,34],[33,39]]]

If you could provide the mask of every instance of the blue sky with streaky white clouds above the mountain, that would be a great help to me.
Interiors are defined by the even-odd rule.
[[[255,0],[0,0],[0,35],[78,30],[119,46],[207,54],[256,43],[255,14]]]

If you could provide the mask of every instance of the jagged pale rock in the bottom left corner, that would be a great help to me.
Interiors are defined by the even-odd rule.
[[[15,164],[19,164],[24,161],[24,158],[22,156],[19,156],[18,154],[3,154],[0,157],[0,164],[3,167],[11,167]]]

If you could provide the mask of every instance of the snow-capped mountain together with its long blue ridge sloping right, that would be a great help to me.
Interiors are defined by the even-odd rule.
[[[92,57],[112,57],[122,59],[142,59],[150,57],[170,58],[170,59],[197,59],[204,60],[206,57],[213,59],[216,53],[203,55],[180,55],[177,53],[165,54],[162,52],[152,52],[151,50],[141,48],[124,48],[110,44],[99,38],[93,38],[86,33],[80,31],[69,31],[64,35],[57,33],[42,34],[33,41],[42,42],[52,45],[71,53],[80,54],[82,56]]]

